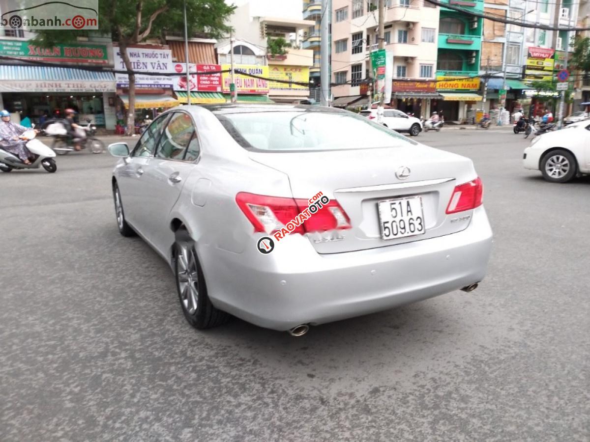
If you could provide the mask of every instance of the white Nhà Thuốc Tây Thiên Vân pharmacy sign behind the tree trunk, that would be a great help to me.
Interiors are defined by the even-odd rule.
[[[172,88],[173,77],[162,74],[175,72],[172,61],[172,51],[161,47],[131,47],[127,48],[127,55],[131,62],[131,68],[135,72],[150,72],[156,75],[135,74],[135,87],[137,88]],[[127,70],[119,47],[113,47],[114,68]],[[116,73],[115,80],[118,88],[129,87],[129,75]]]

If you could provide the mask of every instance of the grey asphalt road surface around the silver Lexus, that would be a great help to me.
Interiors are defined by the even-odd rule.
[[[303,338],[192,329],[117,232],[107,154],[0,173],[0,440],[590,440],[590,179],[543,181],[506,131],[419,140],[474,160],[487,278]]]

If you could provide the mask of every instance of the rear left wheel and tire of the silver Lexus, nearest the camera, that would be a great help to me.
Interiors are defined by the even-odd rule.
[[[173,259],[176,291],[186,321],[197,329],[212,328],[229,321],[231,316],[211,303],[195,242],[182,227],[176,233]]]

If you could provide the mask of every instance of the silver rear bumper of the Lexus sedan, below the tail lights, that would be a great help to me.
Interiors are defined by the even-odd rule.
[[[287,330],[378,312],[454,291],[484,278],[491,228],[482,207],[452,235],[357,252],[320,255],[287,237],[263,255],[205,247],[215,306],[263,327]],[[252,249],[250,253],[249,249]]]

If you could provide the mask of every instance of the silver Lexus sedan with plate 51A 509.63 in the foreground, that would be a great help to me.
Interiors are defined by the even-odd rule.
[[[119,231],[169,263],[196,328],[235,315],[301,335],[486,273],[471,160],[349,111],[181,106],[109,150]]]

